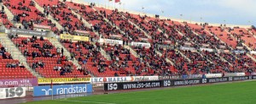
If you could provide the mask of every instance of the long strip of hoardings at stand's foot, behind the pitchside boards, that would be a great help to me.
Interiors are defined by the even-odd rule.
[[[222,74],[205,74],[207,78],[219,78]],[[244,76],[244,73],[225,74],[229,76]],[[256,74],[255,74],[256,75]],[[92,78],[38,78],[38,79],[0,79],[0,88],[2,87],[27,87],[47,85],[53,80],[54,84],[68,83],[109,83],[109,82],[132,82],[132,81],[148,81],[160,79],[200,79],[201,74],[185,74],[175,76],[120,76],[120,77],[92,77]]]

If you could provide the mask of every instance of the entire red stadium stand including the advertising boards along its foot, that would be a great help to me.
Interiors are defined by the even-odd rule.
[[[66,0],[0,3],[0,99],[256,79],[253,25]]]

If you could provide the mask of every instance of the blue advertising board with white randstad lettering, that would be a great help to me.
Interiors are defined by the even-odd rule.
[[[50,96],[52,95],[52,90],[53,95],[90,93],[92,92],[92,85],[53,85],[52,89],[50,88],[50,85],[34,86],[33,96]]]

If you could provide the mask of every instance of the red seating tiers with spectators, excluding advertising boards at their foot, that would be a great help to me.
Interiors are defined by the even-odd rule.
[[[256,71],[256,30],[252,27],[160,19],[93,3],[4,0],[3,5],[2,25],[10,31],[6,36],[31,69],[0,45],[0,79]],[[36,30],[37,25],[49,27],[52,34],[32,36],[12,29]]]

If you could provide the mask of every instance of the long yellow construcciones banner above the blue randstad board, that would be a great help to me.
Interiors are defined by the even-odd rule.
[[[38,84],[90,82],[90,78],[38,78]]]

